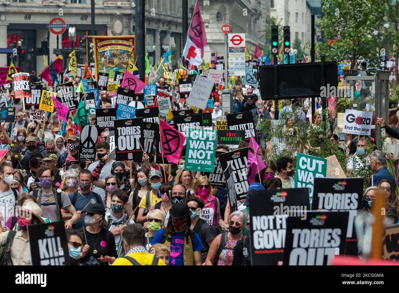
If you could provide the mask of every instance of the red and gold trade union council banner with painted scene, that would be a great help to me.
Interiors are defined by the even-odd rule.
[[[129,60],[134,64],[134,35],[93,36],[95,72],[107,72],[114,78],[124,72]]]

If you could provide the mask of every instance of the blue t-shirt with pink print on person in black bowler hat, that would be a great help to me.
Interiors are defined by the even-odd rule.
[[[162,240],[163,229],[159,229],[154,239],[151,242],[151,245],[160,243]],[[183,262],[183,250],[184,250],[184,234],[186,231],[175,233],[172,235],[172,241],[170,243],[170,254],[169,254],[169,265],[184,265]],[[198,251],[203,249],[203,245],[201,240],[199,239],[198,234],[194,236],[193,241],[193,251]]]

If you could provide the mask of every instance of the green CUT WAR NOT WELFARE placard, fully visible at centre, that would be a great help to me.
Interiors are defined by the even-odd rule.
[[[185,170],[213,172],[215,167],[216,131],[189,128]]]

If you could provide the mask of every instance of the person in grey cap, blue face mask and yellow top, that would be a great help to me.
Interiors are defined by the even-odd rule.
[[[136,222],[144,223],[146,222],[147,212],[150,210],[151,206],[162,201],[160,195],[158,195],[158,189],[161,187],[162,175],[158,170],[151,170],[149,173],[151,182],[151,191],[148,191],[144,197],[142,197],[140,204],[138,205],[138,216]],[[144,212],[146,210],[146,212]]]

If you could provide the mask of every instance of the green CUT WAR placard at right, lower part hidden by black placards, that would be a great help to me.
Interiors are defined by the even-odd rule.
[[[314,178],[326,177],[327,160],[312,155],[298,153],[295,168],[295,188],[309,188],[310,209],[312,209]]]

